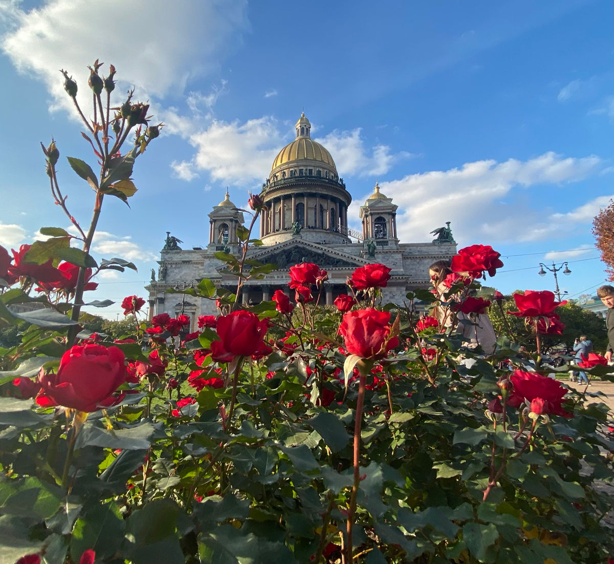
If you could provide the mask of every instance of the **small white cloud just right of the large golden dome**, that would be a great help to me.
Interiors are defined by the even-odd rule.
[[[316,139],[326,147],[335,159],[337,171],[341,176],[374,176],[386,174],[392,164],[403,158],[411,158],[411,153],[402,151],[391,154],[387,145],[375,145],[365,148],[365,141],[360,136],[360,128],[352,131],[332,131],[327,136]]]

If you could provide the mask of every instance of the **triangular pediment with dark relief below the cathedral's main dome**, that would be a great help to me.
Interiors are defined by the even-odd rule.
[[[331,249],[327,245],[297,239],[284,241],[255,253],[249,253],[249,258],[262,263],[276,264],[279,270],[284,271],[299,263],[314,263],[327,270],[332,268],[354,269],[369,262],[362,257]]]

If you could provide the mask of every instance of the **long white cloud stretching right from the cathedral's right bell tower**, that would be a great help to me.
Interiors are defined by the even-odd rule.
[[[402,241],[426,241],[430,231],[446,221],[452,222],[454,236],[461,245],[535,241],[571,233],[575,223],[590,221],[593,210],[610,196],[565,214],[532,206],[527,191],[545,184],[559,185],[563,191],[565,183],[599,172],[600,164],[597,156],[562,158],[548,152],[528,161],[475,161],[448,171],[410,174],[381,182],[380,187],[399,206],[397,232]],[[355,200],[349,217],[358,216],[363,201],[364,198]],[[561,209],[565,198],[557,201]]]

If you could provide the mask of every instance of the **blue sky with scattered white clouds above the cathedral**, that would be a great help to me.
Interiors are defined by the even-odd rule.
[[[87,92],[87,65],[112,63],[163,135],[137,161],[131,209],[104,203],[95,258],[109,272],[91,312],[115,319],[143,285],[165,232],[208,243],[226,188],[258,191],[301,110],[351,192],[378,180],[403,242],[450,221],[459,248],[490,244],[501,292],[554,289],[540,261],[569,261],[561,290],[604,282],[591,222],[614,196],[614,4],[608,0],[309,4],[242,0],[0,0],[0,244],[68,227],[53,206],[39,142],[54,136],[68,205],[88,225],[91,190],[66,156],[95,164],[58,69]],[[104,67],[106,71],[107,67]],[[84,100],[84,107],[87,102]]]

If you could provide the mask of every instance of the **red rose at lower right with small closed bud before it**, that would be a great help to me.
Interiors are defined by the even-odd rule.
[[[532,403],[539,398],[543,400],[543,404],[537,402],[535,403],[535,408],[542,410],[540,414],[573,417],[572,413],[562,408],[562,398],[567,393],[567,389],[562,387],[560,382],[535,372],[524,372],[522,370],[515,370],[511,374],[510,380],[513,384],[510,398],[508,399],[510,406],[518,407],[524,401]]]

